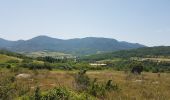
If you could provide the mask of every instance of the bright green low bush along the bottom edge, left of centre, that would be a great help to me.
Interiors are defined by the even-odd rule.
[[[40,89],[36,89],[34,96],[29,99],[28,97],[25,98],[26,100],[96,100],[88,93],[77,93],[65,87],[55,87],[44,93],[41,93]]]

